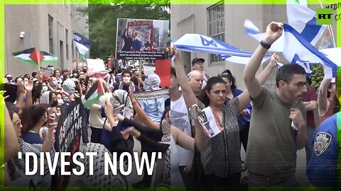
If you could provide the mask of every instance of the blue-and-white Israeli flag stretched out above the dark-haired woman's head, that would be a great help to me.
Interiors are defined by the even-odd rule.
[[[185,52],[199,52],[205,54],[217,54],[222,59],[234,62],[238,64],[247,64],[251,58],[253,52],[245,52],[237,47],[228,45],[225,42],[216,40],[212,37],[198,34],[185,34],[178,40],[172,42],[178,50]],[[269,55],[266,55],[262,62],[270,59]]]

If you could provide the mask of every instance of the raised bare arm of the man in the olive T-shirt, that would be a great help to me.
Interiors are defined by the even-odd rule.
[[[266,45],[271,45],[281,37],[282,32],[283,23],[272,22],[266,27],[266,35],[262,42]],[[267,49],[262,45],[259,45],[244,69],[243,79],[251,98],[256,98],[261,93],[261,82],[259,79],[256,79],[256,72],[258,71],[261,60],[266,52]]]

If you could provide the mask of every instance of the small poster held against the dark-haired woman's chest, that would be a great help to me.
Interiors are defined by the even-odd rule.
[[[210,107],[203,109],[197,119],[199,120],[202,128],[204,128],[204,132],[210,138],[215,137],[223,130],[222,127],[219,127],[217,125],[219,122],[217,122],[217,120],[215,119],[212,108]]]

